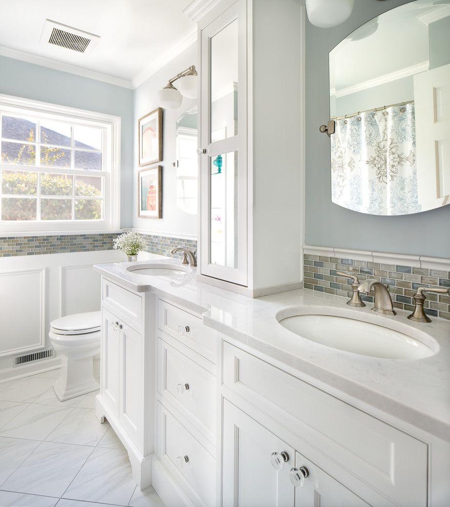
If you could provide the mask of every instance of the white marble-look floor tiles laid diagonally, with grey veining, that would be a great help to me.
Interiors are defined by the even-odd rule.
[[[0,384],[0,506],[164,507],[139,491],[127,451],[98,423],[95,395],[60,402],[53,370]]]

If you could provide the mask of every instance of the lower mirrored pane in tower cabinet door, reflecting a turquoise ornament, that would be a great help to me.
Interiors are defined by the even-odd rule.
[[[211,264],[237,267],[237,152],[211,157]]]

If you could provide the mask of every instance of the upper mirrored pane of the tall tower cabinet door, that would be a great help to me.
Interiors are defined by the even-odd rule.
[[[211,142],[237,135],[237,19],[211,38]]]

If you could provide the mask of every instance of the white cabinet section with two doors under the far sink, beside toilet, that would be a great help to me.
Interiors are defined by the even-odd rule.
[[[102,280],[100,394],[97,417],[105,417],[126,447],[139,487],[151,484],[154,428],[155,297]]]

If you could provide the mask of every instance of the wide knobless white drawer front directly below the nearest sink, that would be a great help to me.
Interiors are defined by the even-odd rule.
[[[223,384],[400,505],[427,503],[428,446],[223,342]]]

